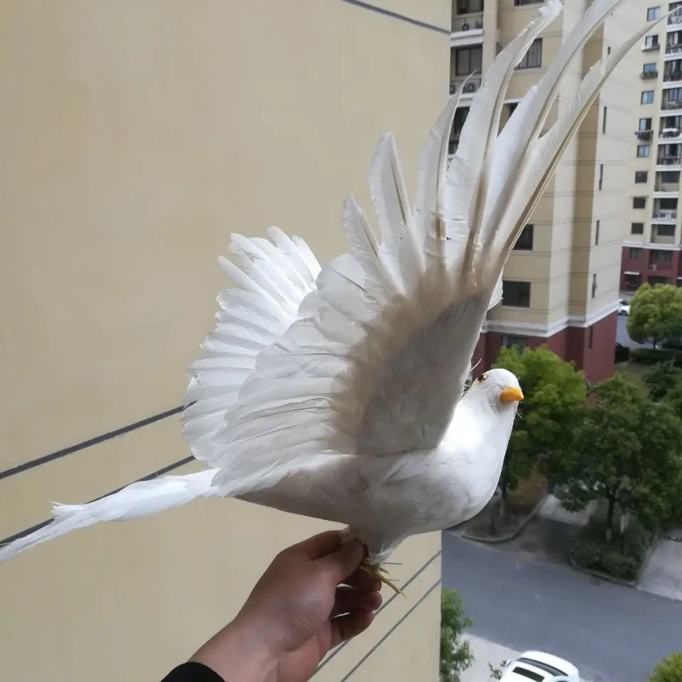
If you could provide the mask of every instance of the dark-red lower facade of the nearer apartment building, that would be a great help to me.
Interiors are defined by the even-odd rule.
[[[608,379],[613,374],[614,350],[616,344],[617,315],[611,313],[590,327],[566,327],[550,337],[526,336],[529,348],[545,346],[559,357],[575,363],[585,372],[585,378],[592,384]],[[499,355],[504,334],[488,331],[482,334],[474,352],[474,362],[481,370],[492,365]]]

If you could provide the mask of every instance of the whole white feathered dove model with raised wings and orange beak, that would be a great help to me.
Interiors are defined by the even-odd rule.
[[[523,395],[504,369],[462,391],[514,242],[607,75],[649,28],[597,63],[541,136],[570,60],[621,2],[590,6],[498,134],[514,67],[561,12],[559,0],[545,4],[486,73],[448,168],[450,99],[423,148],[412,206],[384,136],[369,175],[380,241],[350,197],[350,254],[324,268],[280,229],[234,234],[220,259],[234,287],[218,296],[183,414],[204,470],[58,504],[50,525],[1,548],[0,560],[98,521],[238,497],[346,524],[381,575],[408,536],[485,507]]]

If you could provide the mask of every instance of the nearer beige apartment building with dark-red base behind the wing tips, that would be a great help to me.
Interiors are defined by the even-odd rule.
[[[574,97],[580,77],[637,30],[641,0],[616,11],[574,60],[546,128]],[[511,80],[502,125],[546,71],[589,6],[566,0],[561,16],[535,40]],[[450,92],[461,90],[450,151],[468,113],[467,100],[495,55],[538,10],[529,0],[453,0]],[[641,22],[640,22],[641,23]],[[489,313],[477,359],[494,362],[502,346],[546,345],[591,381],[612,374],[620,283],[623,196],[632,185],[628,153],[634,107],[632,55],[617,67],[558,166],[504,270],[502,305]],[[471,73],[475,76],[463,86]],[[628,127],[630,125],[630,127]]]

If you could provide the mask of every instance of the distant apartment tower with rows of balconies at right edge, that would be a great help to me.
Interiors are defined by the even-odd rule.
[[[632,115],[629,220],[622,249],[623,291],[643,282],[682,285],[682,2],[642,6],[654,22],[637,60],[639,99]],[[632,134],[634,133],[634,135]]]

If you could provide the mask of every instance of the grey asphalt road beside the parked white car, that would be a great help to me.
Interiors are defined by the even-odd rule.
[[[681,602],[448,532],[443,587],[462,595],[472,634],[563,656],[594,682],[643,682],[682,650]]]

